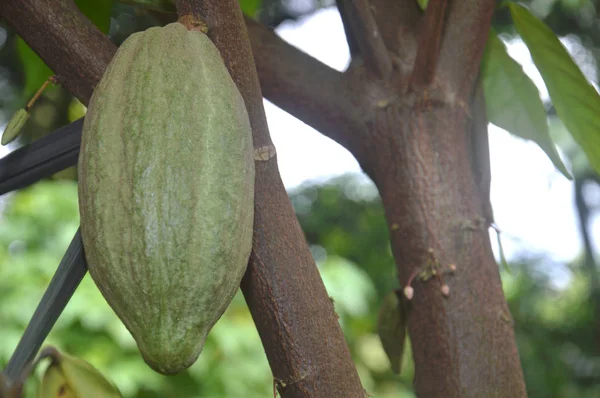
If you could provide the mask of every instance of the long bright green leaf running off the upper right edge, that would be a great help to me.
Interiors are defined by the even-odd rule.
[[[546,24],[519,4],[508,7],[556,113],[600,173],[600,96]]]

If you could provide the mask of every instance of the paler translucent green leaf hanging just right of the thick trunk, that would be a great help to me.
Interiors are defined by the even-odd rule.
[[[571,179],[550,136],[546,109],[537,87],[508,55],[506,46],[493,30],[484,54],[483,85],[489,121],[537,143],[554,166]]]

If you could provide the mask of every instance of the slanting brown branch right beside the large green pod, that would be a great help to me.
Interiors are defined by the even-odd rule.
[[[246,102],[255,148],[272,145],[252,49],[237,1],[179,0],[176,5],[178,9],[193,10],[195,16],[207,22],[209,37]],[[256,164],[255,206],[254,246],[242,291],[280,394],[364,397],[275,158]]]

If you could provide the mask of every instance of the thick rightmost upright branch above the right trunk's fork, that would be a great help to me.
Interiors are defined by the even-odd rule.
[[[438,70],[457,99],[468,102],[488,38],[494,0],[452,1]]]

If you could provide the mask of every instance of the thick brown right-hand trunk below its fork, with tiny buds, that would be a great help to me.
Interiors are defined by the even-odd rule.
[[[391,107],[373,129],[370,165],[403,283],[434,263],[457,271],[413,283],[408,328],[423,397],[522,397],[525,389],[483,201],[470,168],[459,107]],[[394,131],[393,135],[388,132]],[[443,134],[442,134],[443,132]]]

